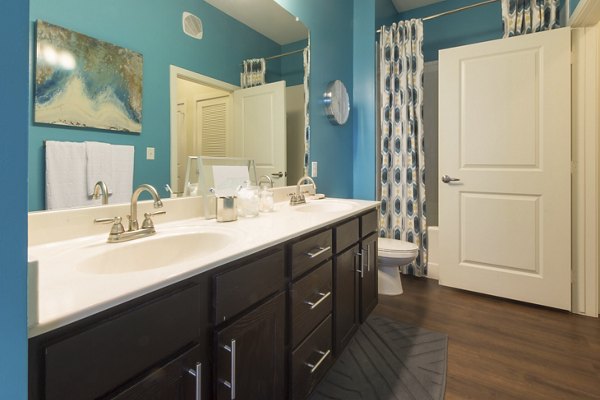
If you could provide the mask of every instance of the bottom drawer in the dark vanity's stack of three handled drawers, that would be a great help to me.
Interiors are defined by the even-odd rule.
[[[305,399],[331,366],[331,326],[327,317],[292,353],[292,399]]]

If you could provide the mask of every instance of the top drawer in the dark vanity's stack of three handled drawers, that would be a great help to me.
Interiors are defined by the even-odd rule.
[[[310,236],[292,245],[292,278],[295,278],[333,254],[331,230]]]

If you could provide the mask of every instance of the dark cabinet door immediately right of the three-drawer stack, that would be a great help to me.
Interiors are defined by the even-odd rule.
[[[354,246],[335,258],[335,354],[341,353],[358,328],[358,252],[359,247]]]

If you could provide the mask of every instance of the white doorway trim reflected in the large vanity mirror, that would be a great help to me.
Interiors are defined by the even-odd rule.
[[[211,86],[217,89],[233,92],[239,89],[235,86],[218,79],[201,75],[197,72],[171,65],[169,67],[169,93],[170,93],[170,115],[171,115],[171,185],[177,181],[177,79],[186,79],[191,82]]]

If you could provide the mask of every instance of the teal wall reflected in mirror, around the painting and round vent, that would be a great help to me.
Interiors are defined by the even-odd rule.
[[[181,14],[202,19],[204,38],[181,29]],[[31,124],[30,210],[44,207],[44,140],[101,141],[135,146],[134,185],[162,188],[170,181],[169,65],[239,85],[241,61],[279,54],[281,46],[198,0],[31,0],[30,21],[43,19],[144,56],[143,126],[141,135]],[[33,54],[33,43],[30,51]],[[32,90],[32,89],[30,89]],[[145,159],[146,147],[156,159]]]

